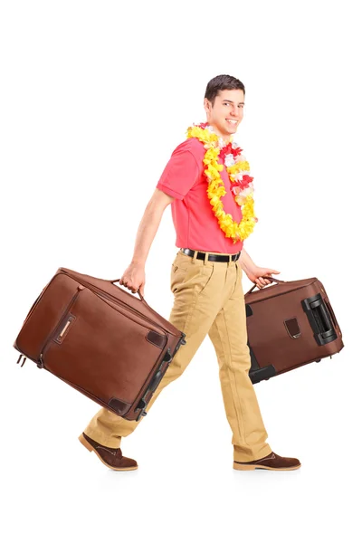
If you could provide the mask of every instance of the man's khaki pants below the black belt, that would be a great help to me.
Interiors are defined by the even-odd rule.
[[[224,253],[221,253],[224,254]],[[195,253],[196,255],[196,253]],[[169,321],[186,333],[186,345],[176,352],[147,411],[165,386],[181,376],[206,334],[214,344],[225,413],[233,432],[233,460],[249,462],[271,453],[252,381],[247,346],[245,303],[240,262],[196,260],[179,251],[171,265],[175,295]],[[101,408],[84,433],[109,447],[132,433],[144,417],[128,421]]]

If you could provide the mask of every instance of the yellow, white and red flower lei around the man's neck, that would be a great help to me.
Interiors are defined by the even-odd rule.
[[[186,130],[186,135],[187,138],[197,138],[204,143],[206,149],[204,173],[208,177],[209,183],[207,196],[210,205],[213,206],[213,212],[219,226],[225,233],[225,237],[233,238],[233,243],[246,239],[252,233],[258,219],[254,216],[253,210],[253,177],[248,175],[250,167],[242,155],[243,149],[239,148],[235,142],[232,142],[232,138],[226,145],[223,138],[219,138],[214,133],[213,127],[207,123],[194,124],[194,126]],[[235,202],[242,208],[243,218],[240,223],[234,221],[231,214],[225,214],[224,212],[224,205],[220,198],[226,194],[226,190],[223,179],[219,174],[224,166],[217,161],[219,156],[224,160],[230,181],[233,183],[231,190]]]

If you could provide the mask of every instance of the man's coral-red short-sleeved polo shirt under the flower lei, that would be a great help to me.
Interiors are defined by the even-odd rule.
[[[171,203],[172,220],[176,230],[176,247],[205,252],[242,251],[243,240],[233,243],[225,237],[207,197],[208,180],[204,174],[204,144],[197,138],[180,143],[167,162],[157,188],[174,196]],[[220,164],[223,164],[219,158]],[[243,214],[231,192],[230,179],[224,166],[220,172],[226,194],[222,197],[224,212],[240,223]]]

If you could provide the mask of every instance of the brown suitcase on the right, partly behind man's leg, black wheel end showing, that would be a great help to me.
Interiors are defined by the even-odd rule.
[[[265,276],[266,277],[266,276]],[[244,295],[252,383],[332,357],[342,332],[323,284],[316,278],[281,281]]]

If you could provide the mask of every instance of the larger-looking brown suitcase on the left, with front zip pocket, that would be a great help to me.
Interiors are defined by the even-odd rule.
[[[146,407],[185,334],[114,283],[60,268],[14,342],[83,395],[128,420]],[[22,366],[24,366],[24,361]]]

